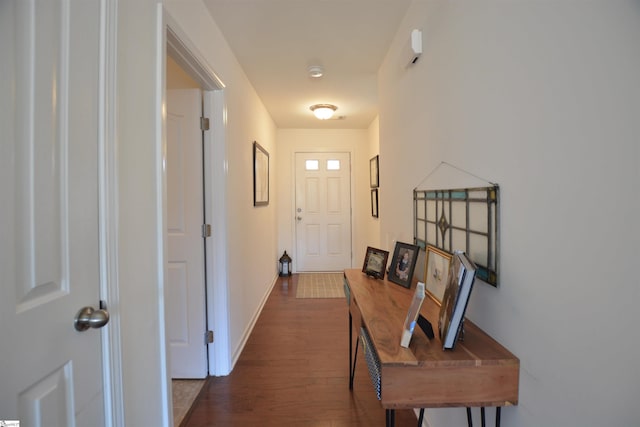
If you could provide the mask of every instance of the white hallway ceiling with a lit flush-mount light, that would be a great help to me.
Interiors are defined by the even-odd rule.
[[[204,0],[279,128],[367,128],[376,73],[411,0]],[[320,79],[308,75],[321,65]],[[309,106],[338,106],[316,119]]]

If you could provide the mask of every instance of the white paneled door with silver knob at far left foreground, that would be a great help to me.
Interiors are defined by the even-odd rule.
[[[0,418],[104,426],[100,1],[0,2]]]

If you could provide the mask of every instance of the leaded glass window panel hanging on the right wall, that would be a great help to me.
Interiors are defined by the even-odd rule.
[[[477,277],[498,285],[499,187],[414,190],[414,243],[453,253],[463,250]]]

